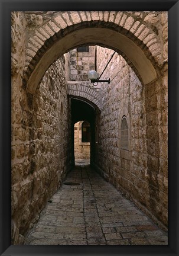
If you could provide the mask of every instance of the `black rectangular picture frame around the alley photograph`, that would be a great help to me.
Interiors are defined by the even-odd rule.
[[[0,0],[1,255],[179,255],[178,0]],[[11,245],[11,11],[168,11],[168,245]]]

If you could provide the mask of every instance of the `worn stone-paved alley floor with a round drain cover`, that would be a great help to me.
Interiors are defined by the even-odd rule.
[[[80,162],[27,235],[30,245],[166,245],[167,233]]]

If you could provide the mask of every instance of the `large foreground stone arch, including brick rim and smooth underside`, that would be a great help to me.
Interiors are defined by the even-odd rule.
[[[157,78],[155,61],[162,62],[161,47],[147,17],[145,14],[142,20],[130,12],[57,12],[49,15],[45,24],[28,36],[24,86],[34,92],[48,66],[83,43],[116,50],[144,84],[154,81]]]

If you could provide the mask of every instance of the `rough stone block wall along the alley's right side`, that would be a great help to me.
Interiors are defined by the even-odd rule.
[[[99,73],[112,54],[113,50],[97,47]],[[160,72],[158,81],[144,87],[123,57],[115,53],[101,78],[110,78],[110,85],[101,85],[95,167],[163,227],[162,223],[167,225],[168,205],[167,66]],[[128,121],[128,150],[121,149],[123,116]]]

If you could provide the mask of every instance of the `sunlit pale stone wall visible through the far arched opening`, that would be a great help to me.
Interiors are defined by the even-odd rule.
[[[90,142],[82,142],[82,123],[74,124],[74,158],[90,159]]]

